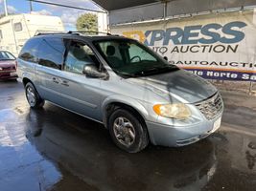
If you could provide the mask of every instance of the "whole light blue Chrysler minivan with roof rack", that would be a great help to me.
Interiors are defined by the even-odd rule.
[[[206,80],[136,40],[76,32],[38,34],[17,58],[27,100],[99,121],[121,149],[184,146],[221,126],[223,103]]]

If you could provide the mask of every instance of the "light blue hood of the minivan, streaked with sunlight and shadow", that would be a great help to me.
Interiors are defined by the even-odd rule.
[[[130,78],[131,79],[131,78]],[[167,74],[132,78],[133,83],[151,88],[158,95],[183,103],[196,103],[217,93],[217,89],[201,77],[184,70]]]

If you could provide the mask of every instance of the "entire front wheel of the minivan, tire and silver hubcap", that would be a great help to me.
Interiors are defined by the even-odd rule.
[[[114,143],[128,153],[137,153],[149,144],[146,126],[127,110],[117,109],[111,114],[108,130]]]

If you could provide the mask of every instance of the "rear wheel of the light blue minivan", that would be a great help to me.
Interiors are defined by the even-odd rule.
[[[30,107],[33,109],[42,108],[44,105],[44,100],[38,95],[35,90],[34,85],[31,82],[28,82],[25,86],[26,97]]]

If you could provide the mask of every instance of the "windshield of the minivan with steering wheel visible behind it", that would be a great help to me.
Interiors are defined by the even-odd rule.
[[[97,41],[95,45],[112,70],[120,75],[136,77],[178,70],[135,40]]]

